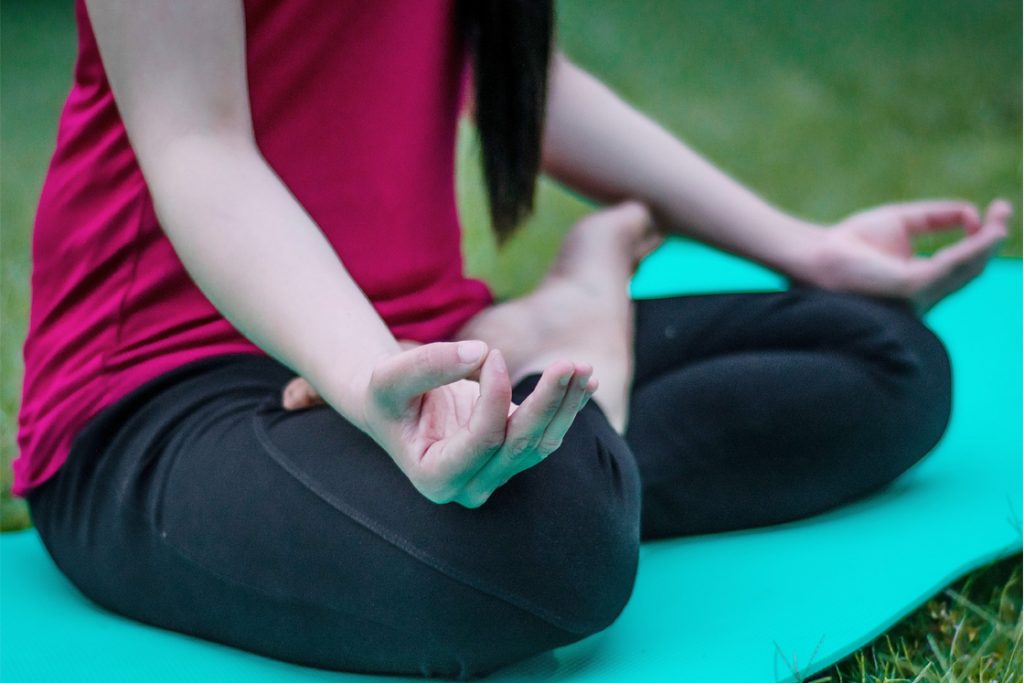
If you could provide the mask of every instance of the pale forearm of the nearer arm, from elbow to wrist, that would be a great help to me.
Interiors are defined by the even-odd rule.
[[[204,294],[358,424],[368,369],[399,347],[254,144],[182,137],[146,169],[157,214]]]

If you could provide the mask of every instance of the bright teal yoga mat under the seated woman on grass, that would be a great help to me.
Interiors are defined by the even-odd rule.
[[[643,263],[633,294],[781,285],[673,241]],[[925,461],[884,492],[812,519],[645,545],[633,597],[611,628],[492,680],[799,680],[1020,549],[1020,262],[993,262],[928,322],[953,356],[954,407]],[[57,572],[32,531],[0,537],[0,554],[4,683],[395,680],[286,665],[105,612]]]

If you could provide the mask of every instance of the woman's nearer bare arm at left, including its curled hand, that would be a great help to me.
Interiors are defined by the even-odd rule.
[[[262,158],[242,0],[86,3],[160,223],[240,332],[309,380],[436,503],[482,505],[558,447],[596,389],[589,367],[553,364],[514,405],[501,353],[483,342],[402,350]]]

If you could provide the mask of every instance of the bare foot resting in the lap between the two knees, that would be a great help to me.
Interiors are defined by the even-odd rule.
[[[513,384],[556,360],[590,364],[600,381],[594,400],[625,433],[633,383],[629,282],[662,239],[637,202],[590,214],[566,236],[536,290],[480,311],[455,339],[500,348]]]

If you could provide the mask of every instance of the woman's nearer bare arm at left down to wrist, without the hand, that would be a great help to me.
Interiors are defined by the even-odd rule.
[[[257,148],[241,0],[87,5],[157,216],[189,275],[358,424],[359,387],[399,347]]]

